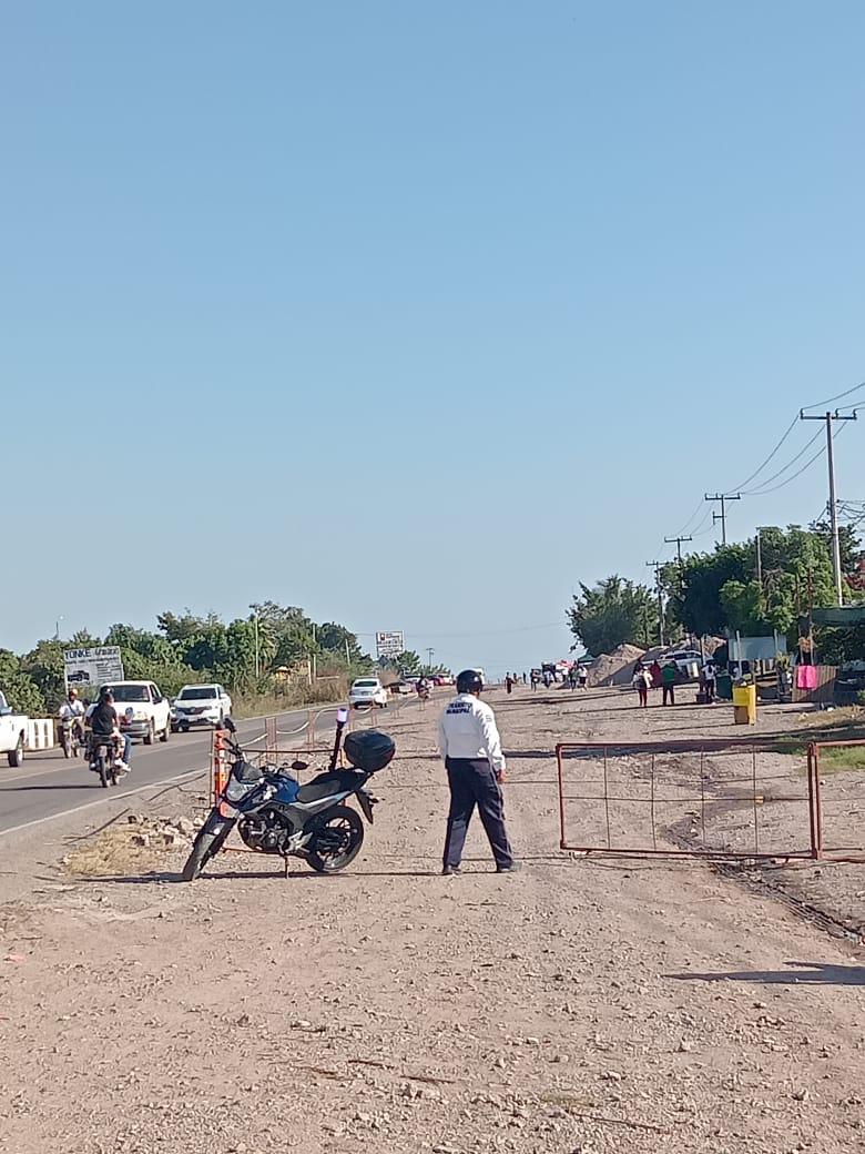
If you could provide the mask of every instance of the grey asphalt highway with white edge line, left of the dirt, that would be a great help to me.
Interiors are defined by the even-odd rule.
[[[330,744],[336,709],[329,707],[314,718],[316,748]],[[279,714],[277,736],[280,749],[302,749],[306,745],[304,724],[308,719],[307,710]],[[240,721],[238,740],[250,750],[264,748],[264,719]],[[108,789],[100,786],[99,778],[88,769],[83,757],[67,760],[60,749],[27,754],[24,764],[17,770],[0,764],[0,838],[75,810],[135,796],[143,788],[196,778],[201,778],[204,785],[209,780],[210,749],[210,729],[172,734],[166,743],[157,741],[153,745],[136,742],[131,752],[131,773],[120,785]]]

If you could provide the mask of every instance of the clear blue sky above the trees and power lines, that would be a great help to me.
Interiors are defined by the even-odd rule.
[[[5,5],[0,645],[273,598],[453,666],[564,655],[579,580],[645,579],[865,377],[864,33],[800,0]]]

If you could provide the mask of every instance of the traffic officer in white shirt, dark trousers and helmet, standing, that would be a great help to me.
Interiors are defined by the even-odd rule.
[[[477,669],[464,669],[457,677],[457,696],[438,721],[438,750],[447,767],[451,807],[444,842],[442,872],[459,874],[462,847],[475,805],[489,838],[496,870],[517,869],[504,824],[502,740],[492,710],[480,699],[483,677]]]

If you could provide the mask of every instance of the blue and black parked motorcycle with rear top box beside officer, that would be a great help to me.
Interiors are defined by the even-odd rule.
[[[200,876],[235,825],[250,849],[281,854],[285,859],[301,857],[319,874],[336,874],[354,861],[363,845],[363,822],[355,809],[343,803],[355,796],[363,816],[373,824],[377,800],[364,787],[373,774],[391,762],[396,745],[386,733],[376,729],[352,733],[343,743],[347,720],[348,711],[339,710],[328,770],[304,786],[285,769],[251,765],[238,742],[226,739],[234,763],[221,796],[193,844],[183,881],[193,882]],[[224,724],[231,734],[236,733],[230,718]],[[340,748],[352,769],[337,769]],[[300,771],[307,766],[294,762],[291,769]]]

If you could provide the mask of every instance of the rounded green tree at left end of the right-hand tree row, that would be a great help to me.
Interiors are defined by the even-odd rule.
[[[645,647],[659,638],[654,594],[617,574],[592,589],[580,584],[567,620],[577,640],[596,655],[625,643]]]

